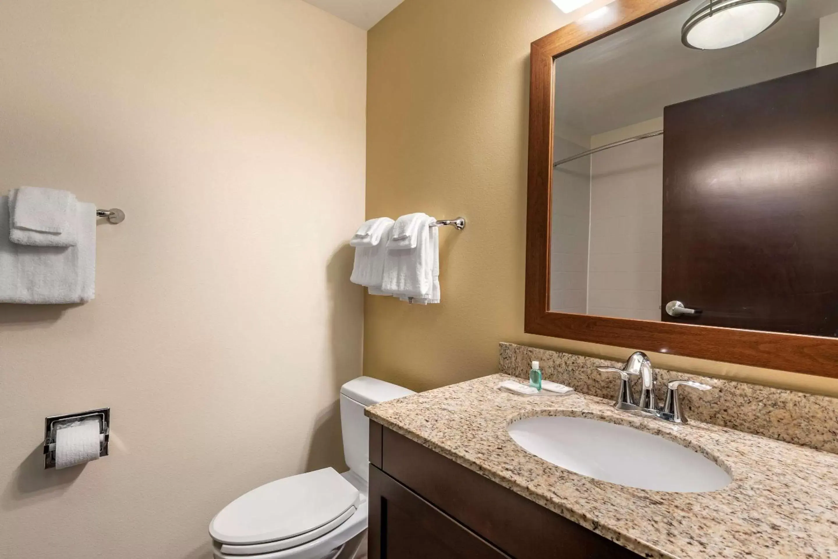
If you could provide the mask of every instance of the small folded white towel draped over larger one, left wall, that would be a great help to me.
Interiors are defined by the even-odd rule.
[[[46,194],[43,192],[46,192]],[[47,200],[53,192],[59,192],[61,195],[54,196],[56,201],[49,203]],[[64,194],[68,196],[64,196]],[[64,221],[61,223],[62,218],[59,218],[59,210],[47,211],[46,208],[59,207],[65,198],[68,198],[68,207],[65,210]],[[39,206],[39,204],[41,205]],[[17,244],[31,244],[40,247],[75,246],[78,239],[78,228],[75,224],[77,204],[75,195],[64,190],[34,187],[14,188],[8,196],[8,212],[11,219],[8,236],[13,243]],[[42,208],[44,211],[39,212],[38,208]],[[3,211],[5,211],[5,208]],[[20,225],[17,223],[20,223]],[[46,229],[49,228],[56,229],[56,231],[47,231]]]

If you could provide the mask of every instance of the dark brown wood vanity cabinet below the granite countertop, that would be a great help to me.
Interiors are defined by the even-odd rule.
[[[370,421],[370,559],[638,555]]]

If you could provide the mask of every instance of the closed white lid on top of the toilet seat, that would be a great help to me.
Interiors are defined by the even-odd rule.
[[[332,468],[272,481],[241,495],[209,523],[215,541],[245,545],[299,536],[328,524],[360,501]]]

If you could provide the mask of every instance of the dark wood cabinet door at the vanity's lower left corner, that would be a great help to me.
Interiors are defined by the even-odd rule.
[[[510,559],[370,465],[370,559]]]

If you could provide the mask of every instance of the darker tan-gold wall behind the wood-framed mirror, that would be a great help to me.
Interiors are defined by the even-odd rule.
[[[406,0],[370,30],[367,216],[462,214],[468,227],[441,232],[441,305],[366,297],[366,374],[414,389],[479,377],[496,370],[499,341],[629,355],[524,333],[530,42],[569,19],[550,0]],[[838,395],[838,380],[823,377],[652,358],[661,367]]]

